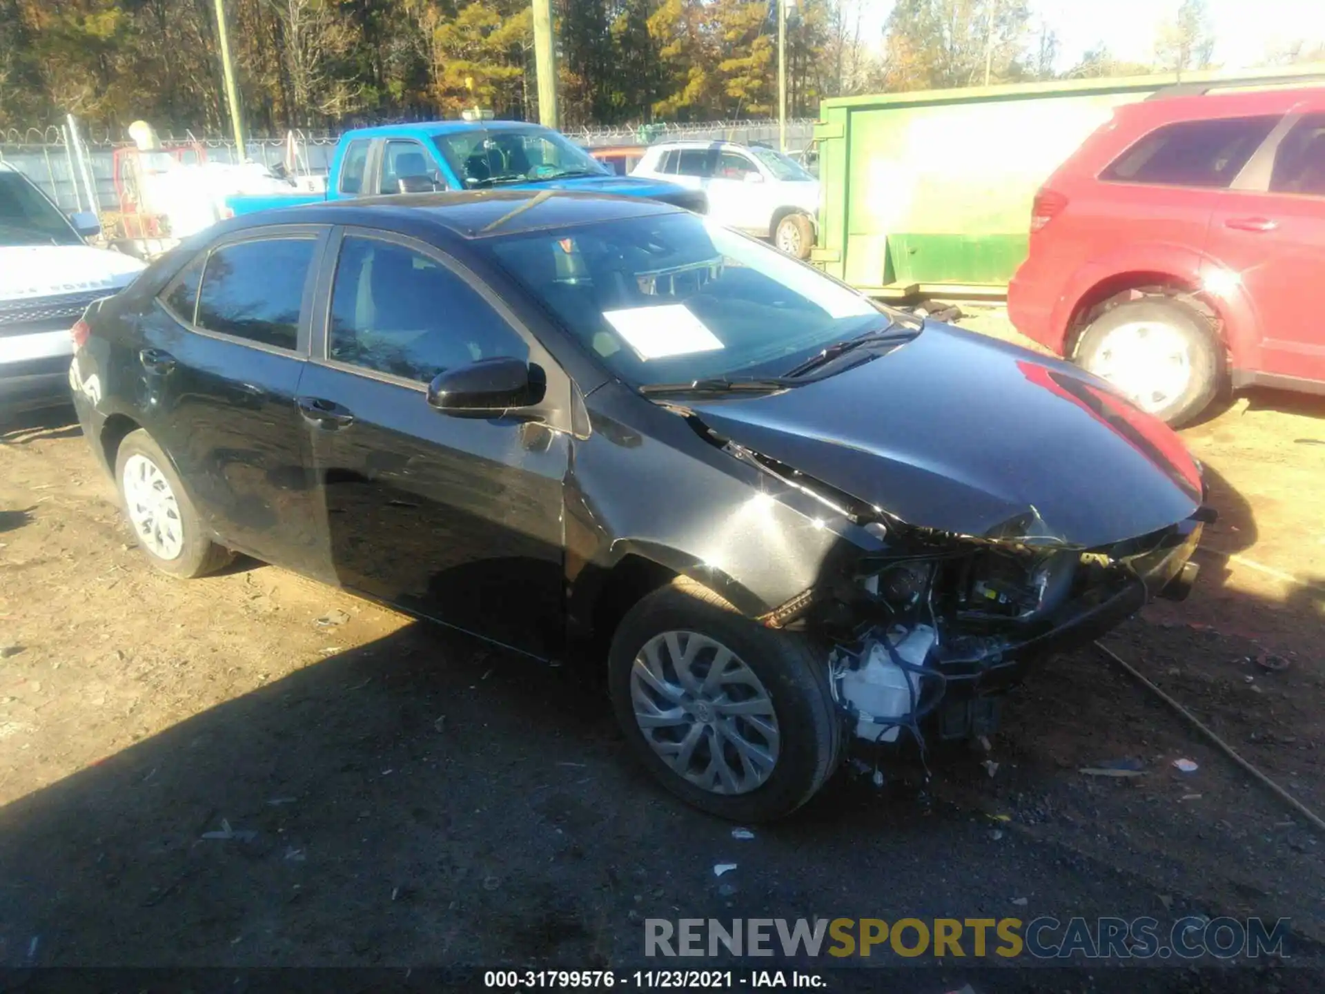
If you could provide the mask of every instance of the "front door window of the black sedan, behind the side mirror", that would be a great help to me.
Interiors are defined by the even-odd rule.
[[[480,359],[529,359],[525,339],[452,269],[360,236],[341,245],[327,339],[335,362],[417,383]]]

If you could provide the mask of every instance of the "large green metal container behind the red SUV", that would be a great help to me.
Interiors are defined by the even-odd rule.
[[[1318,65],[1186,73],[1181,89],[1320,76]],[[1114,107],[1175,83],[1166,74],[827,99],[815,126],[812,260],[880,297],[999,294],[1026,258],[1040,184]]]

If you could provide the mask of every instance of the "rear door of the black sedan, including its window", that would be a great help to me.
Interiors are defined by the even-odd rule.
[[[323,577],[294,404],[327,228],[242,232],[200,253],[142,318],[143,425],[225,545]]]

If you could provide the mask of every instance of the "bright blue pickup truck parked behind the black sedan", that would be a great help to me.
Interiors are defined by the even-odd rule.
[[[322,200],[489,187],[644,196],[708,212],[702,191],[617,176],[559,131],[518,121],[433,121],[347,131],[331,159],[326,193],[235,195],[225,207],[235,216]]]

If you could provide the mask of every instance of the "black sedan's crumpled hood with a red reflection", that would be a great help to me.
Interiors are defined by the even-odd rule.
[[[934,322],[827,379],[689,407],[741,445],[945,531],[987,535],[1022,518],[1048,541],[1106,546],[1182,521],[1202,498],[1178,436],[1102,380]]]

